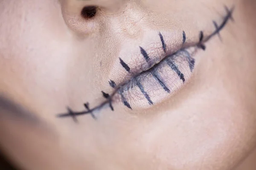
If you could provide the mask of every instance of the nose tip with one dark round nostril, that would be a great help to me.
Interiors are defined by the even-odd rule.
[[[118,13],[128,0],[59,0],[67,26],[78,34],[95,31],[99,20],[94,20],[100,10],[104,14]],[[102,17],[101,17],[102,18]]]

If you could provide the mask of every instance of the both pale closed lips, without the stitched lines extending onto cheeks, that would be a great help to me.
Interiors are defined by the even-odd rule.
[[[113,102],[122,102],[133,110],[163,101],[182,87],[192,74],[191,65],[187,62],[189,52],[179,50],[193,46],[191,48],[195,52],[196,40],[193,44],[186,43],[184,31],[177,35],[155,31],[144,37],[142,43],[131,45],[125,42],[130,45],[122,48],[109,74],[109,85],[117,92],[113,93]],[[173,58],[172,54],[177,51],[176,56],[179,57]],[[172,65],[169,59],[174,59]]]

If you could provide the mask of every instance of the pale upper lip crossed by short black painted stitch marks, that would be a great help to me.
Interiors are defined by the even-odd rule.
[[[122,45],[124,48],[119,52],[108,76],[109,82],[115,82],[117,87],[124,85],[132,77],[161,62],[166,56],[192,45],[192,43],[183,43],[183,31],[179,31],[178,34],[154,31],[145,33],[143,37],[145,38],[138,43],[127,40]],[[128,66],[128,69],[124,64]]]

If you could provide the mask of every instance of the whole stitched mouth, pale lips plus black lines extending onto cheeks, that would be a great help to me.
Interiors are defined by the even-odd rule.
[[[90,113],[94,119],[93,111],[112,103],[122,103],[130,110],[149,108],[162,102],[175,92],[179,91],[192,76],[195,67],[195,54],[198,50],[205,50],[205,43],[233,20],[234,8],[226,9],[226,16],[219,25],[213,21],[215,31],[204,36],[199,32],[199,38],[192,43],[186,42],[186,33],[180,32],[180,36],[173,36],[165,32],[158,32],[153,37],[154,42],[137,45],[137,48],[124,48],[116,60],[111,74],[109,86],[113,89],[110,94],[104,92],[106,100],[95,108],[86,111],[59,114],[59,117],[76,116]],[[176,38],[175,40],[174,37]],[[152,37],[150,37],[152,40]],[[146,47],[146,48],[145,48]],[[133,50],[135,49],[135,50]],[[131,54],[131,55],[127,55]],[[127,57],[128,56],[128,57]],[[105,108],[105,107],[104,107]]]

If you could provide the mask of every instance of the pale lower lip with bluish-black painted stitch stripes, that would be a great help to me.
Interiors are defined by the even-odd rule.
[[[186,84],[192,75],[192,65],[194,60],[185,51],[167,56],[153,68],[119,87],[119,101],[125,106],[128,103],[128,108],[133,110],[157,105]]]

